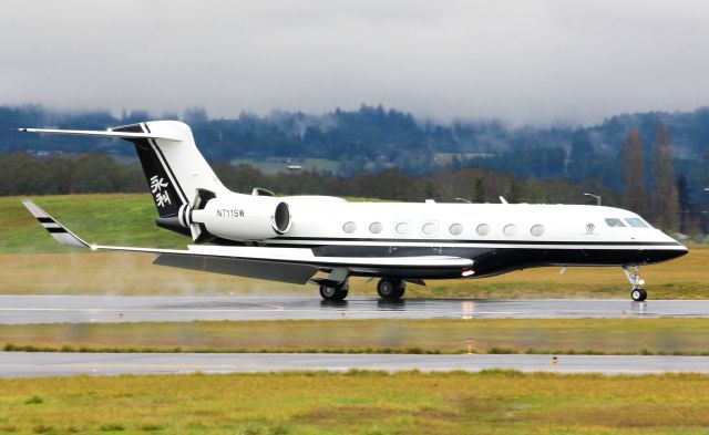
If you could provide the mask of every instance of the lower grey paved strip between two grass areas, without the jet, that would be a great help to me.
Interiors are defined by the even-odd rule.
[[[523,372],[646,374],[709,373],[709,356],[561,355],[372,355],[298,353],[0,353],[0,377],[177,373],[253,373],[280,371],[476,372],[511,369]]]

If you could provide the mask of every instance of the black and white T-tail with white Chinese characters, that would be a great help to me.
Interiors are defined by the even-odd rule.
[[[121,137],[135,145],[158,225],[187,228],[187,214],[198,189],[226,191],[195,145],[192,130],[178,121],[124,125],[106,132],[20,128],[22,132]]]

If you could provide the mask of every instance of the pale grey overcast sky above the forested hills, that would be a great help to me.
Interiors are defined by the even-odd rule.
[[[709,104],[699,0],[2,0],[0,40],[0,104],[516,124]]]

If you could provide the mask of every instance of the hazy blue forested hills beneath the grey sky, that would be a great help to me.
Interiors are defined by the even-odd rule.
[[[361,106],[322,115],[274,112],[267,116],[242,114],[210,120],[204,110],[182,116],[155,116],[132,112],[121,117],[107,112],[58,113],[41,106],[0,106],[0,152],[103,149],[133,156],[130,146],[110,139],[20,136],[18,126],[104,130],[154,118],[187,122],[207,159],[317,157],[337,160],[338,173],[387,168],[413,175],[436,169],[442,156],[454,166],[472,165],[507,170],[521,177],[598,178],[614,188],[623,186],[621,149],[630,127],[639,130],[645,159],[651,164],[658,124],[669,125],[676,169],[695,187],[706,180],[705,154],[709,145],[709,107],[689,113],[638,113],[617,115],[593,126],[510,127],[501,122],[415,120],[411,114],[381,106]],[[449,154],[443,154],[449,153]],[[451,154],[455,157],[451,158]]]

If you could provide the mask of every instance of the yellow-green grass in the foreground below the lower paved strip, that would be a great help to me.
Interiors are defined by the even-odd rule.
[[[0,433],[701,434],[709,376],[379,372],[0,380]]]

